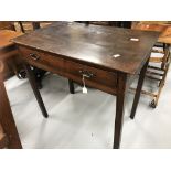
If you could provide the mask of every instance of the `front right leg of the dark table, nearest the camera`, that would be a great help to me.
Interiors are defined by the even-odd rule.
[[[125,95],[126,95],[127,74],[118,74],[118,88],[116,96],[116,117],[115,117],[115,132],[114,132],[114,149],[120,148],[122,119],[125,113]]]

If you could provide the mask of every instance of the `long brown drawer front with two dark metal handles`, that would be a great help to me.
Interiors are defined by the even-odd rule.
[[[92,67],[70,60],[64,60],[29,47],[19,46],[22,57],[31,65],[71,78],[87,86],[116,94],[117,73]]]

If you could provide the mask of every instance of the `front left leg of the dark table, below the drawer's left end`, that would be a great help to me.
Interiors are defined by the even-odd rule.
[[[45,109],[44,103],[43,103],[43,100],[42,100],[41,94],[40,94],[40,92],[39,92],[39,88],[38,88],[38,85],[36,85],[36,82],[35,82],[35,77],[34,77],[34,74],[33,74],[33,72],[31,71],[29,64],[24,64],[24,68],[25,68],[25,71],[26,71],[28,78],[29,78],[30,84],[31,84],[31,86],[32,86],[33,93],[34,93],[35,98],[36,98],[36,100],[38,100],[38,104],[39,104],[39,106],[40,106],[40,108],[41,108],[41,110],[42,110],[42,115],[43,115],[45,118],[47,118],[49,115],[47,115],[47,111],[46,111],[46,109]]]

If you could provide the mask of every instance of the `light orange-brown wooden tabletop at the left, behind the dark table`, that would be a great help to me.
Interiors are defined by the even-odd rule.
[[[19,35],[22,35],[22,33],[11,30],[0,30],[0,50],[10,46],[12,44],[10,40]]]

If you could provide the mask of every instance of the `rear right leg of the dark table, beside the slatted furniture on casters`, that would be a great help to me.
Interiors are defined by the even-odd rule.
[[[143,67],[141,68],[140,75],[139,75],[137,90],[136,90],[136,95],[135,95],[135,99],[133,99],[133,104],[132,104],[132,108],[131,108],[131,114],[130,114],[131,119],[133,119],[135,115],[136,115],[136,110],[137,110],[137,106],[139,103],[139,98],[140,98],[140,94],[141,94],[141,89],[142,89],[148,63],[149,63],[149,61],[143,65]]]

